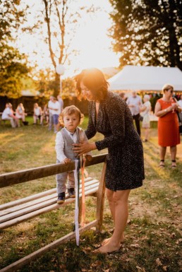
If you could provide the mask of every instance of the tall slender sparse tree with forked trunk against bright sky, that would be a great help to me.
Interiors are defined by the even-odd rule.
[[[42,20],[42,25],[46,25],[47,31],[42,34],[49,46],[51,63],[55,70],[58,64],[69,65],[70,57],[78,53],[75,52],[72,41],[79,24],[79,18],[83,13],[93,13],[97,9],[93,8],[92,5],[89,8],[78,6],[77,2],[76,0],[42,0],[42,13],[39,19]],[[72,84],[68,85],[72,87]],[[59,75],[56,73],[53,88],[54,95],[58,95]],[[68,93],[65,88],[63,88],[63,91]]]

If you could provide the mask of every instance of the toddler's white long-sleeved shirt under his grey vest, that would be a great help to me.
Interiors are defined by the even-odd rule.
[[[83,129],[81,129],[79,126],[77,126],[76,128],[77,130],[79,130],[79,134],[82,134],[83,137],[83,141],[87,141],[87,136],[85,135],[85,132],[83,131]],[[66,129],[66,132],[67,134],[71,137],[71,139],[73,140],[74,143],[77,142],[77,134],[74,133],[74,134],[71,134],[70,131],[68,131]],[[56,146],[55,146],[55,149],[56,149],[56,158],[57,160],[59,160],[60,162],[63,162],[64,159],[66,159],[66,155],[64,154],[63,152],[63,148],[64,148],[64,141],[63,141],[63,136],[61,134],[61,131],[59,131],[57,134],[56,134]],[[86,155],[92,155],[91,152],[88,152],[86,153]]]

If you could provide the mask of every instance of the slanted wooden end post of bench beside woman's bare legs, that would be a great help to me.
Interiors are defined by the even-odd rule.
[[[103,214],[104,214],[104,196],[105,196],[105,175],[106,175],[107,163],[104,162],[102,168],[102,175],[99,182],[99,189],[97,191],[97,227],[96,230],[100,232],[102,230]]]

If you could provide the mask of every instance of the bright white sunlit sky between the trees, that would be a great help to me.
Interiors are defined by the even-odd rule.
[[[23,0],[26,4],[30,4],[30,1]],[[90,6],[94,4],[101,8],[97,13],[89,16],[83,16],[79,22],[80,27],[75,33],[72,46],[73,49],[80,52],[78,56],[71,57],[71,65],[65,66],[64,76],[72,76],[77,69],[87,67],[97,67],[99,69],[104,67],[117,67],[119,66],[119,56],[112,52],[111,38],[107,36],[108,29],[111,26],[111,20],[109,18],[109,11],[111,11],[111,5],[108,0],[79,0],[83,6]],[[34,14],[36,8],[39,8],[41,0],[32,0],[31,4],[34,4],[32,12],[28,17],[28,24],[33,24]],[[107,12],[106,12],[107,11]],[[51,59],[49,57],[48,45],[45,45],[41,41],[39,36],[36,35],[23,35],[17,41],[20,52],[28,54],[29,60],[37,62],[40,69],[51,67]],[[33,52],[37,52],[34,54]]]

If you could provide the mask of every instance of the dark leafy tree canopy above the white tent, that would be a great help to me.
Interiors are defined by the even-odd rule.
[[[182,71],[181,0],[109,0],[120,64],[177,66]]]

